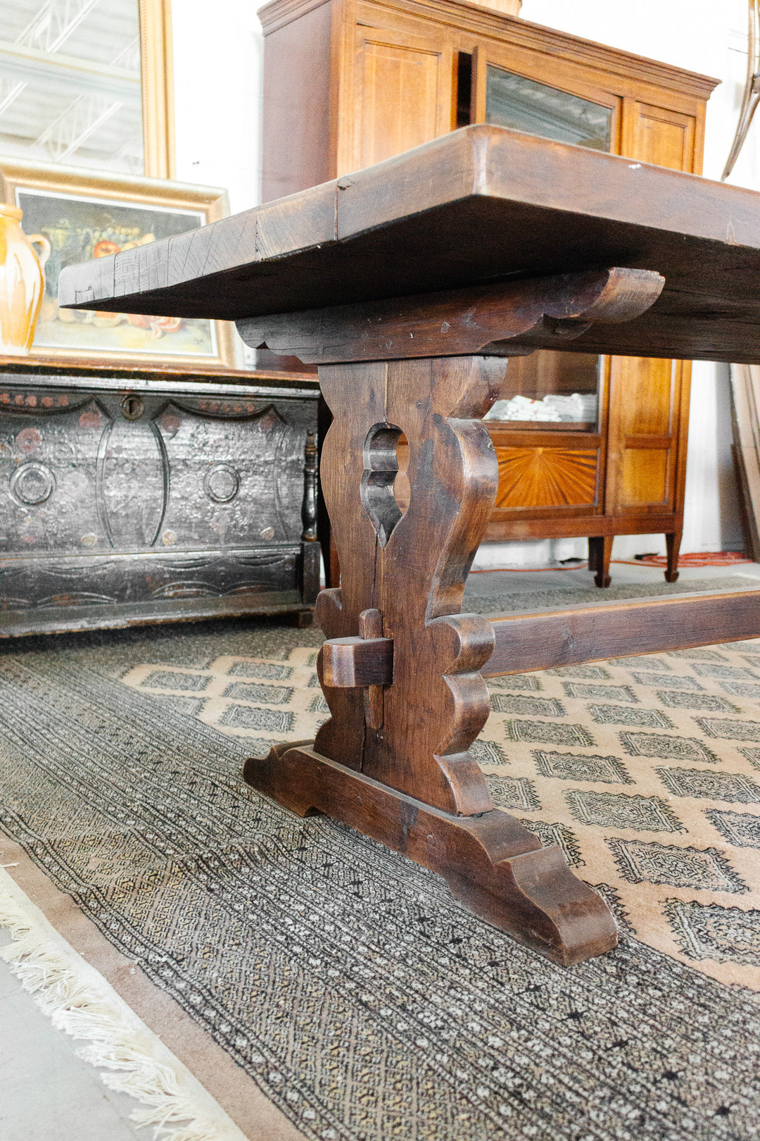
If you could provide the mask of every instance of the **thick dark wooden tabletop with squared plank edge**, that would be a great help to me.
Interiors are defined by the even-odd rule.
[[[566,347],[760,362],[760,194],[500,127],[64,269],[63,306],[237,319],[606,266],[664,275]]]

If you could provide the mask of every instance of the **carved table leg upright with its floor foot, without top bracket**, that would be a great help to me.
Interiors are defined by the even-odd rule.
[[[469,752],[489,714],[479,671],[493,630],[459,610],[498,479],[480,418],[505,369],[474,356],[320,367],[334,418],[322,487],[342,569],[342,586],[317,602],[332,718],[313,747],[278,745],[245,777],[301,816],[326,812],[439,872],[475,914],[566,964],[614,947],[614,921],[556,845],[492,807]]]

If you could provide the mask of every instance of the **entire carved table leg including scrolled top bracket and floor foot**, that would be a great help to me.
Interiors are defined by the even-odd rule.
[[[613,267],[238,322],[252,347],[320,365],[334,418],[322,491],[342,572],[341,589],[317,600],[332,718],[313,747],[247,761],[246,779],[441,873],[465,906],[559,963],[610,950],[615,925],[558,848],[492,807],[469,752],[495,646],[487,618],[459,613],[497,486],[480,418],[504,381],[501,357],[630,321],[662,284]],[[393,494],[401,435],[406,512]]]

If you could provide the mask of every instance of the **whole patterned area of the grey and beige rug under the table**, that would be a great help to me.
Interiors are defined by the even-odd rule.
[[[496,680],[497,801],[621,916],[619,950],[563,970],[243,785],[324,718],[319,640],[6,648],[0,827],[308,1138],[757,1136],[760,644]]]

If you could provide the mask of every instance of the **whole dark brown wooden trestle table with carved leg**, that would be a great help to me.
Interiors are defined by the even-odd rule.
[[[539,348],[760,362],[760,194],[466,127],[201,229],[63,270],[73,308],[236,321],[317,363],[341,563],[317,620],[330,718],[245,778],[444,876],[563,964],[616,944],[606,903],[493,808],[471,745],[485,679],[760,636],[760,591],[488,618],[465,580],[497,488],[481,422]],[[408,502],[397,499],[398,445]]]

